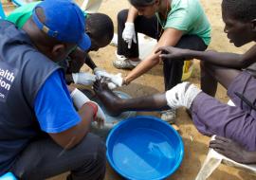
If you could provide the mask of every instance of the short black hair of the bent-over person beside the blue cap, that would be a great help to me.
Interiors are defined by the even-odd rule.
[[[114,36],[114,25],[111,18],[103,13],[91,13],[86,17],[86,28],[93,38],[101,41],[108,40],[109,43]]]

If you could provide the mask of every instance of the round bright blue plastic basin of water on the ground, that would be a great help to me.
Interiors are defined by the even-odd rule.
[[[180,135],[157,117],[131,117],[116,125],[106,141],[107,159],[126,179],[165,179],[184,155]]]

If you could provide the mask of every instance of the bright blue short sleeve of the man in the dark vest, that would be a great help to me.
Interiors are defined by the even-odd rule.
[[[67,90],[61,70],[52,73],[34,101],[36,117],[42,131],[61,133],[81,121]]]

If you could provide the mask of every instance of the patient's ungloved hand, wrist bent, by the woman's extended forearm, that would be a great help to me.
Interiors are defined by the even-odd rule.
[[[173,46],[162,46],[155,50],[155,54],[160,52],[159,58],[167,59],[181,59],[186,58],[187,49],[177,48]]]

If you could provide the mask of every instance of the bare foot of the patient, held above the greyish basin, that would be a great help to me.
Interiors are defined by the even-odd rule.
[[[93,89],[97,97],[103,103],[105,109],[111,116],[119,116],[121,114],[121,102],[117,95],[115,95],[107,86],[107,83],[103,80],[97,80],[93,84]]]

